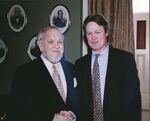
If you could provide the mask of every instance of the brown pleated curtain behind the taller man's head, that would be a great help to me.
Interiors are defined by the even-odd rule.
[[[132,0],[88,0],[88,14],[99,13],[109,23],[109,41],[134,54]]]

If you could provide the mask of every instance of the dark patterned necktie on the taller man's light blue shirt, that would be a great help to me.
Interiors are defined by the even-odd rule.
[[[100,54],[95,55],[92,73],[92,89],[93,89],[93,108],[94,108],[94,121],[103,121],[103,106],[101,99],[101,85],[100,85],[100,71],[98,64],[98,57]]]

